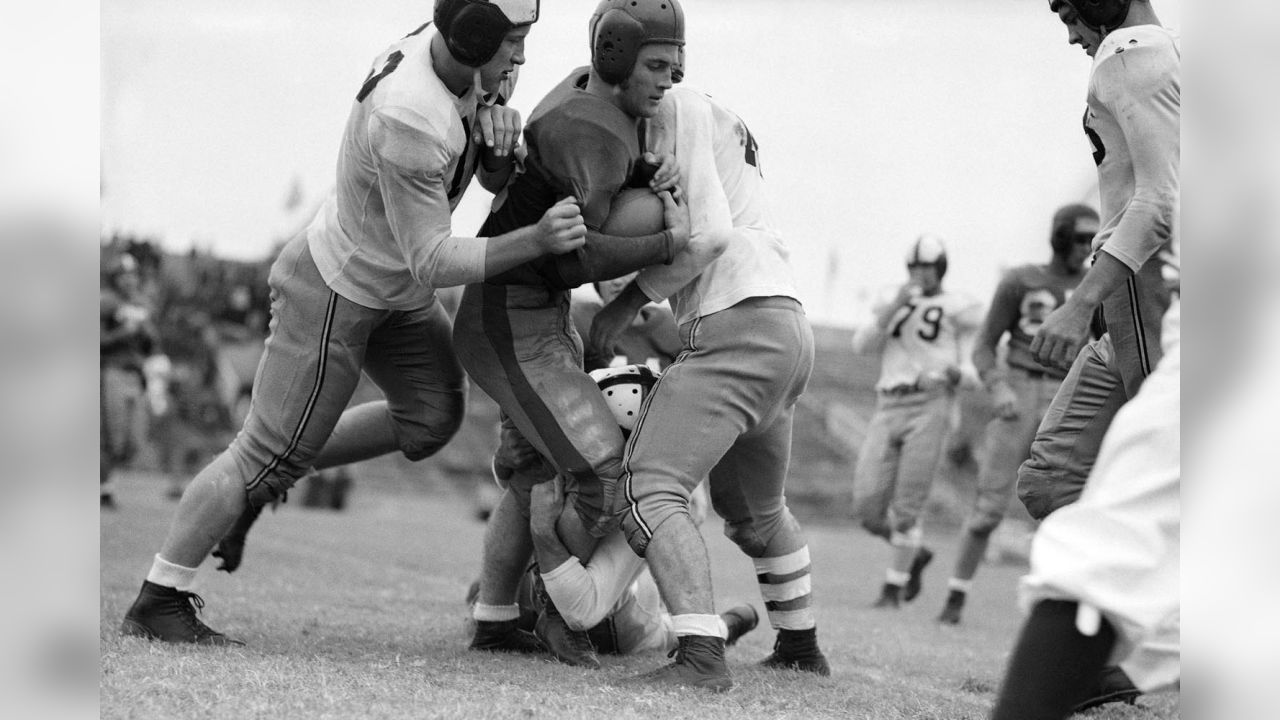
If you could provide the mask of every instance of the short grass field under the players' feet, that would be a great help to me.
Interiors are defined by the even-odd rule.
[[[806,524],[822,646],[831,678],[756,669],[773,633],[762,626],[730,648],[726,694],[621,687],[667,661],[605,657],[598,671],[548,660],[471,652],[463,594],[476,574],[483,525],[448,488],[357,484],[344,512],[283,506],[250,536],[234,575],[206,562],[204,619],[248,643],[195,648],[119,634],[119,621],[168,529],[173,501],[151,474],[120,478],[119,509],[101,516],[102,717],[986,717],[1020,624],[1014,587],[1023,568],[983,569],[965,623],[933,619],[955,557],[950,532],[929,533],[938,557],[920,598],[872,610],[886,548],[850,524]],[[804,520],[804,518],[801,518]],[[750,561],[704,527],[719,606],[760,609]],[[763,614],[762,614],[763,615]],[[1176,719],[1176,694],[1092,719]]]

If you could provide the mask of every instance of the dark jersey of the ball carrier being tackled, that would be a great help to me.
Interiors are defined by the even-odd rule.
[[[480,236],[493,237],[538,223],[557,201],[572,195],[589,231],[599,231],[613,197],[627,187],[644,187],[653,169],[641,158],[644,124],[603,97],[586,91],[588,68],[570,73],[534,108],[525,126],[525,172],[511,181]],[[598,245],[598,233],[575,251],[580,264]],[[544,256],[489,282],[576,287],[581,277],[567,277],[563,256]],[[634,269],[634,268],[632,268]],[[621,274],[621,273],[614,273]],[[613,275],[608,275],[613,277]],[[590,278],[600,279],[600,278]]]

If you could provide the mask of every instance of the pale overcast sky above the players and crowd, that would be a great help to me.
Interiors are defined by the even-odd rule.
[[[333,184],[372,58],[431,4],[104,0],[104,232],[264,258]],[[589,61],[595,0],[548,0],[512,105]],[[1178,27],[1179,3],[1157,0]],[[1043,261],[1053,210],[1096,196],[1080,131],[1089,59],[1039,0],[687,0],[685,82],[751,128],[815,322],[861,322],[924,232],[986,300]],[[291,196],[301,202],[293,210]],[[454,231],[479,228],[472,183]]]

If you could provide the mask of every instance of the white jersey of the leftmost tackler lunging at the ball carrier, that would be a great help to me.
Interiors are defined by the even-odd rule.
[[[484,279],[485,243],[453,237],[451,224],[476,170],[477,88],[458,97],[444,86],[433,37],[424,26],[374,61],[343,132],[337,187],[307,228],[325,283],[367,307],[422,307],[436,287]]]

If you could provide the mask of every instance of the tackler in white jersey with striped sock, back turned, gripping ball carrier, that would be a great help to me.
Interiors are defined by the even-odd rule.
[[[640,272],[600,313],[605,350],[649,301],[672,297],[684,350],[645,401],[623,461],[622,528],[649,561],[678,638],[676,660],[637,682],[727,691],[707,546],[690,495],[709,484],[724,533],[751,557],[774,651],[764,665],[831,674],[818,647],[809,546],[786,505],[795,404],[813,369],[813,331],[764,195],[746,124],[692,90],[672,90],[653,146],[673,151],[694,220],[689,250]]]

